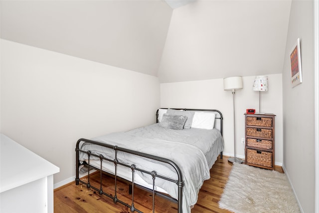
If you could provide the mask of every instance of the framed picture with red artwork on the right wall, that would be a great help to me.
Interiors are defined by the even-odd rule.
[[[300,53],[300,39],[297,39],[296,44],[290,52],[290,66],[291,66],[291,85],[297,86],[303,82],[301,71],[301,53]]]

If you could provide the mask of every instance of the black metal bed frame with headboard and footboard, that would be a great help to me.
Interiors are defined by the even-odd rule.
[[[167,108],[160,108],[160,109],[167,109]],[[172,109],[181,110],[179,108],[172,108]],[[209,109],[182,109],[182,110],[217,112],[219,114],[219,117],[215,117],[215,119],[219,119],[220,120],[220,132],[221,132],[221,135],[223,135],[223,132],[222,132],[223,116],[222,116],[220,111],[218,111],[218,110],[209,110]],[[215,113],[215,114],[217,114],[217,113]],[[157,122],[158,122],[158,116],[159,116],[159,110],[157,110],[157,113],[156,113]],[[79,144],[80,144],[81,141],[82,142],[86,142],[86,143],[99,145],[99,146],[103,146],[103,147],[106,147],[106,148],[114,150],[115,159],[108,159],[108,158],[105,158],[103,155],[95,155],[95,154],[91,153],[91,151],[83,151],[83,150],[81,150],[79,148]],[[77,141],[75,151],[76,151],[76,177],[75,177],[75,184],[76,185],[79,185],[79,183],[82,183],[82,184],[86,185],[86,187],[88,189],[92,188],[95,191],[99,192],[100,195],[106,195],[107,197],[113,199],[114,203],[118,203],[119,202],[120,204],[130,208],[131,212],[135,212],[136,211],[138,213],[142,213],[140,210],[138,210],[138,209],[136,209],[134,207],[134,187],[136,186],[136,187],[142,188],[143,190],[152,192],[152,196],[153,196],[153,213],[155,212],[155,195],[163,197],[165,199],[168,199],[168,200],[170,200],[173,203],[177,203],[177,212],[178,213],[182,213],[182,190],[183,190],[184,183],[183,183],[181,171],[180,171],[178,166],[173,161],[171,161],[169,159],[161,158],[161,157],[158,157],[158,156],[154,156],[154,155],[149,155],[147,153],[137,152],[137,151],[134,151],[134,150],[125,149],[125,148],[122,148],[122,147],[113,146],[113,145],[109,145],[109,144],[104,144],[104,143],[100,143],[100,142],[97,142],[97,141],[88,140],[88,139],[84,139],[84,138],[81,138],[81,139],[79,139]],[[79,160],[79,153],[80,152],[87,154],[87,156],[88,156],[88,162],[87,163],[86,162],[83,162],[83,163],[80,162],[80,160]],[[144,158],[152,159],[152,160],[155,160],[155,161],[158,161],[158,162],[166,163],[166,164],[172,166],[175,169],[178,178],[177,178],[177,180],[173,180],[173,179],[158,175],[156,171],[145,171],[143,169],[137,168],[134,164],[132,164],[132,165],[124,164],[124,163],[120,162],[119,159],[117,158],[117,153],[118,152],[130,153],[132,155],[137,155],[137,156],[141,156],[141,157],[144,157]],[[100,168],[97,168],[95,166],[90,165],[90,157],[91,156],[100,159],[100,162],[101,162],[100,163]],[[220,152],[220,158],[221,159],[222,159],[222,156],[223,156],[222,152]],[[114,167],[115,167],[115,174],[114,175],[109,173],[109,172],[106,172],[106,171],[102,170],[102,162],[104,160],[114,163]],[[88,181],[87,182],[82,181],[79,178],[79,172],[80,172],[80,166],[81,165],[84,165],[84,166],[88,167],[88,175],[87,175]],[[123,178],[118,176],[118,174],[117,174],[117,166],[118,165],[122,165],[124,167],[131,168],[132,181],[125,180],[125,179],[123,179]],[[90,170],[91,169],[94,169],[94,170],[97,170],[97,171],[100,172],[100,189],[98,189],[96,187],[93,187],[90,184]],[[152,179],[153,179],[153,190],[150,190],[150,189],[148,189],[146,187],[143,187],[143,186],[135,184],[135,182],[134,182],[135,181],[134,180],[135,171],[140,171],[142,173],[149,174],[149,175],[152,176]],[[107,194],[107,193],[103,192],[103,189],[102,189],[102,174],[107,174],[107,175],[110,175],[110,176],[114,177],[114,179],[115,179],[114,196],[111,195],[111,194]],[[164,179],[166,181],[170,181],[170,182],[176,183],[176,185],[178,187],[177,199],[174,199],[174,198],[172,198],[172,197],[170,197],[168,195],[165,195],[163,193],[159,193],[159,192],[155,191],[155,179],[156,178],[161,178],[161,179]],[[132,194],[132,204],[131,205],[129,205],[129,204],[127,204],[127,203],[125,203],[125,202],[123,202],[123,201],[118,199],[118,197],[117,197],[117,181],[118,180],[125,181],[125,182],[128,182],[130,184],[129,185],[129,194]]]

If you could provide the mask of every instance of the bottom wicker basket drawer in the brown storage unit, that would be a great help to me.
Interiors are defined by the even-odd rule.
[[[272,168],[272,152],[247,149],[247,163]]]

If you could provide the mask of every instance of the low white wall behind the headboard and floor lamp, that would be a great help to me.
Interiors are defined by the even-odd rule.
[[[235,92],[236,148],[238,157],[245,157],[246,109],[259,108],[259,92],[252,90],[255,76],[243,77],[243,89]],[[268,75],[269,91],[261,94],[261,112],[274,113],[275,164],[283,163],[282,74]],[[232,93],[224,91],[223,79],[185,81],[160,84],[160,106],[171,108],[218,109],[223,114],[224,155],[234,155]]]

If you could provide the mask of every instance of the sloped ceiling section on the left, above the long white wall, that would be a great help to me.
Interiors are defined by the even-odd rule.
[[[1,0],[1,38],[156,76],[163,0]]]

